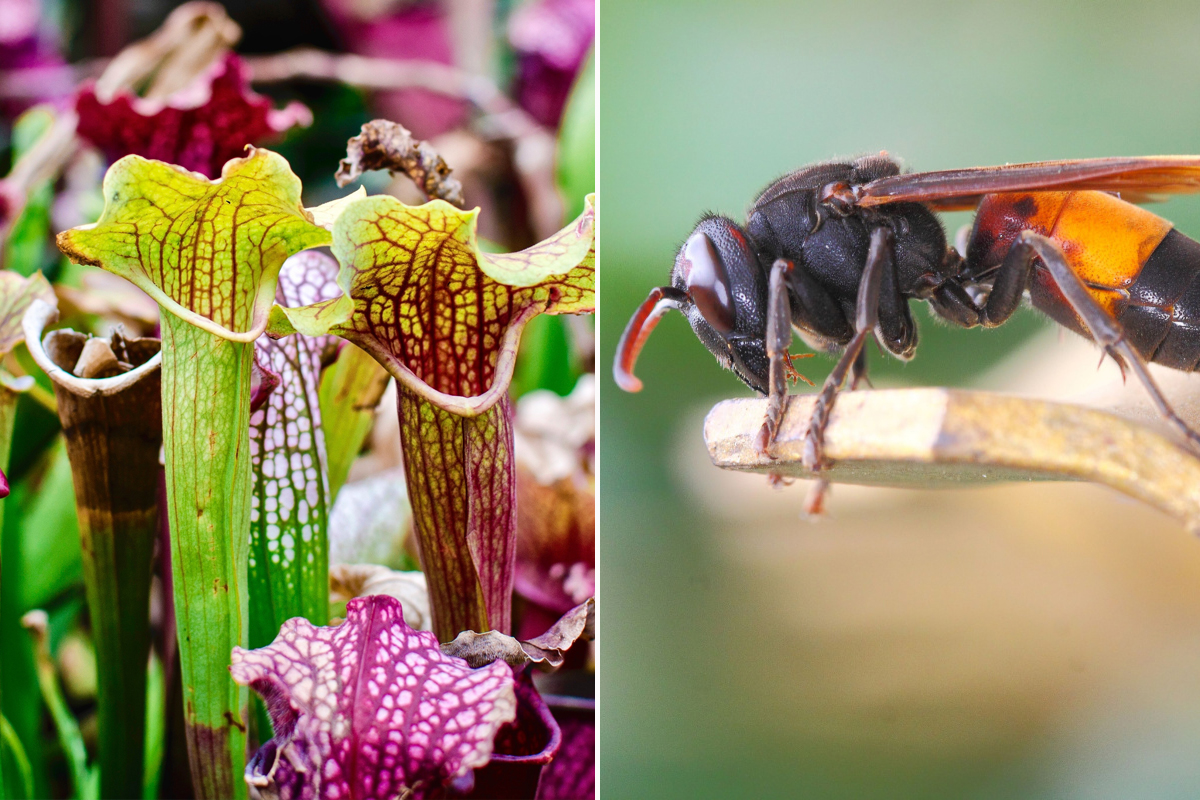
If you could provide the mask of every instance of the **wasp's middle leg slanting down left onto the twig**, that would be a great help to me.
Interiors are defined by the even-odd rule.
[[[866,339],[874,335],[878,323],[880,290],[883,285],[884,270],[895,271],[895,237],[890,229],[876,228],[871,231],[871,249],[866,254],[866,266],[863,269],[863,278],[858,284],[854,336],[850,339],[841,357],[838,359],[833,372],[826,378],[816,405],[812,407],[809,432],[804,438],[804,465],[810,470],[818,471],[824,465],[824,429],[829,423],[829,414],[838,401],[838,392],[846,383],[846,377],[858,361]]]

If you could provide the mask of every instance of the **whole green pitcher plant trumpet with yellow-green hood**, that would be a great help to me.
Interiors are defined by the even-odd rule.
[[[126,156],[103,191],[100,221],[58,243],[163,311],[163,456],[192,781],[200,798],[244,798],[248,696],[228,667],[233,648],[248,644],[253,342],[284,259],[329,243],[329,233],[269,150],[251,148],[217,180]]]

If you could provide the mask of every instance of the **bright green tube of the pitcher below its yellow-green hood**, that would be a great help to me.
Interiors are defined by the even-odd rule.
[[[198,798],[245,798],[252,343],[162,319],[163,450],[184,718]]]

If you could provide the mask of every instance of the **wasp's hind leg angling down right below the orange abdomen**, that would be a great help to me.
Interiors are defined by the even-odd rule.
[[[1175,428],[1183,434],[1188,444],[1193,450],[1200,452],[1200,434],[1188,427],[1171,404],[1166,402],[1163,392],[1158,389],[1158,384],[1154,383],[1153,377],[1151,377],[1150,371],[1146,368],[1146,362],[1141,357],[1141,354],[1129,343],[1124,336],[1124,331],[1121,329],[1121,324],[1112,319],[1104,311],[1104,308],[1096,302],[1087,287],[1080,281],[1079,276],[1075,275],[1074,270],[1067,263],[1067,258],[1058,249],[1058,246],[1050,239],[1040,236],[1032,231],[1024,231],[1013,246],[1013,249],[1018,247],[1028,251],[1028,258],[1032,261],[1032,255],[1036,253],[1042,258],[1042,261],[1050,270],[1050,275],[1054,277],[1055,283],[1062,291],[1063,296],[1070,303],[1070,307],[1075,309],[1075,313],[1084,320],[1087,325],[1087,330],[1092,333],[1092,338],[1096,343],[1104,348],[1104,350],[1116,359],[1118,362],[1123,359],[1129,367],[1133,369],[1134,374],[1138,375],[1138,380],[1146,389],[1146,393],[1150,395],[1151,401],[1158,408],[1158,413],[1170,422]],[[1008,258],[1004,259],[1007,265]],[[1026,275],[1028,270],[1026,269]],[[997,283],[1000,276],[997,276]],[[994,289],[995,291],[995,289]],[[991,306],[991,299],[989,297],[988,305]]]

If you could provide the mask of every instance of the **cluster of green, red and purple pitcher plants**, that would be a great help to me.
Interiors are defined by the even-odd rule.
[[[172,24],[182,25],[163,31]],[[522,422],[510,389],[536,371],[522,347],[535,318],[594,311],[594,196],[557,233],[494,252],[452,164],[376,120],[350,139],[340,182],[386,169],[426,201],[360,187],[306,207],[288,161],[246,143],[311,114],[250,92],[227,47],[209,61],[202,104],[150,102],[101,78],[68,113],[26,115],[28,157],[42,148],[44,158],[66,131],[112,160],[98,218],[55,240],[91,293],[0,271],[0,462],[7,471],[14,437],[46,435],[14,432],[22,402],[52,410],[64,443],[36,491],[23,477],[5,504],[18,501],[22,525],[53,524],[38,497],[73,491],[95,753],[65,700],[53,613],[4,631],[29,646],[24,661],[5,658],[0,686],[20,685],[22,669],[36,680],[68,768],[56,790],[80,799],[157,796],[173,717],[199,798],[590,792],[580,775],[594,745],[551,710],[532,670],[588,658],[594,507],[572,475],[592,434],[546,445],[565,450],[568,468],[532,477],[545,464],[518,464],[528,413]],[[20,168],[0,181],[13,266],[38,207]],[[100,270],[144,293],[145,335],[56,326],[64,306],[68,317],[95,308],[96,287],[133,296],[100,283]],[[335,500],[368,437],[386,429],[372,431],[392,379],[420,571],[331,566]],[[590,384],[580,386],[542,402],[566,409]],[[36,607],[30,597],[53,589],[28,585],[28,536],[2,542],[0,557],[24,565],[5,571],[5,601]],[[523,593],[533,600],[516,610],[529,610],[515,613],[517,584],[539,576],[548,590]],[[44,789],[31,768],[44,753],[23,732],[42,711],[8,720],[4,708],[0,798],[31,796]]]

